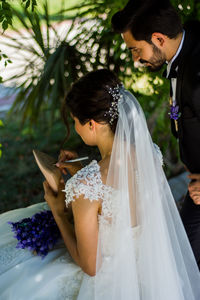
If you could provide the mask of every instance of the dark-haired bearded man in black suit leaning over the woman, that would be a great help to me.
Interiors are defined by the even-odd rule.
[[[191,182],[181,217],[200,268],[200,25],[182,26],[168,0],[130,0],[112,18],[134,62],[170,80],[172,134]]]

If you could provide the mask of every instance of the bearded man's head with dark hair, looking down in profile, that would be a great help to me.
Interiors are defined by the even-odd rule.
[[[182,35],[181,20],[168,0],[129,0],[112,17],[115,32],[138,61],[151,71],[159,70],[175,54]]]

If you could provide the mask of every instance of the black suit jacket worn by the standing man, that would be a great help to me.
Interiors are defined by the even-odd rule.
[[[182,162],[192,173],[200,173],[200,23],[185,27],[185,40],[173,66],[178,65],[176,101],[181,116],[176,133]]]

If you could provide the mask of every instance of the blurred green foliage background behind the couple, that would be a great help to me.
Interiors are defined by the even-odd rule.
[[[112,15],[126,2],[76,0],[67,1],[66,6],[66,1],[60,1],[59,5],[58,1],[50,0],[0,1],[0,22],[2,30],[6,30],[4,43],[22,58],[21,68],[12,78],[4,80],[17,89],[17,96],[4,126],[0,127],[1,211],[42,201],[43,179],[32,149],[58,155],[66,132],[60,120],[63,97],[74,80],[97,68],[114,70],[138,98],[153,140],[164,153],[166,175],[171,177],[183,171],[176,140],[170,133],[169,83],[162,78],[162,71],[150,74],[134,69],[120,35],[111,30]],[[200,19],[199,1],[172,3],[183,22]],[[61,35],[57,24],[66,20],[70,26]],[[7,61],[12,57],[2,56],[2,59]],[[65,148],[98,157],[98,151],[85,147],[71,127],[71,138]]]

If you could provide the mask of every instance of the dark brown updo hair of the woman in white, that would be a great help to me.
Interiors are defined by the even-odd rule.
[[[109,124],[115,133],[117,119],[110,122],[108,111],[113,102],[109,88],[121,85],[117,76],[107,69],[92,71],[75,82],[68,92],[62,109],[62,116],[68,128],[68,112],[78,118],[84,125],[90,120],[97,123]]]

